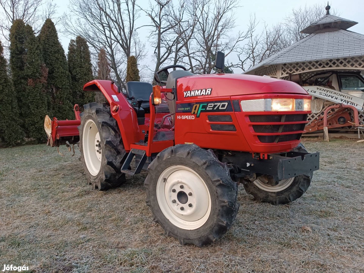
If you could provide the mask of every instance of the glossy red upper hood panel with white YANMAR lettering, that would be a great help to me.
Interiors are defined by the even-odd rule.
[[[198,98],[285,93],[307,95],[301,86],[288,80],[245,74],[204,74],[179,78],[177,80],[178,100]]]

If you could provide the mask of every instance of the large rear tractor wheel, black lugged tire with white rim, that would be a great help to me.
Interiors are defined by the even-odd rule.
[[[87,181],[94,190],[118,187],[126,181],[120,172],[126,152],[118,124],[106,104],[92,102],[83,107],[78,145]]]

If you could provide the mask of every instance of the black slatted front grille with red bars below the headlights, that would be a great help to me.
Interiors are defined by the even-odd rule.
[[[249,120],[252,123],[266,123],[266,124],[252,124],[253,130],[256,133],[277,133],[277,135],[257,135],[260,142],[263,143],[277,143],[284,141],[295,141],[301,138],[305,123],[285,124],[285,122],[303,122],[307,120],[307,114],[289,114],[289,115],[250,115]],[[281,124],[269,124],[269,123]],[[284,134],[292,132],[292,134]]]

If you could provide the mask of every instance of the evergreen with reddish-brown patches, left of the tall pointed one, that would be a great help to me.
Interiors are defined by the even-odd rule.
[[[43,126],[50,101],[49,93],[46,90],[48,69],[43,63],[39,41],[35,37],[32,27],[26,25],[25,29],[29,33],[25,41],[27,55],[24,75],[27,77],[27,86],[21,112],[26,135],[40,143],[46,140]]]

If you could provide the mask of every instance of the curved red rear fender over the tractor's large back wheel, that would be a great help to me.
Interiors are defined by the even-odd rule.
[[[101,91],[110,104],[112,117],[119,126],[123,145],[130,151],[130,144],[140,141],[143,137],[139,132],[138,118],[134,109],[118,87],[110,80],[92,80],[83,86],[83,91]]]

